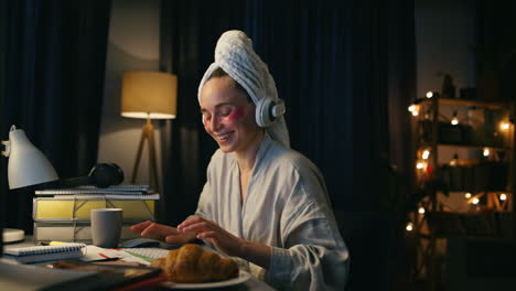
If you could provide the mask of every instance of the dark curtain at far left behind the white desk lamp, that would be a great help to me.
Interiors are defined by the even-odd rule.
[[[110,1],[2,1],[0,137],[15,125],[61,177],[97,159]],[[32,233],[32,190],[9,191],[1,161],[1,215]]]

